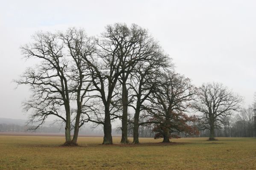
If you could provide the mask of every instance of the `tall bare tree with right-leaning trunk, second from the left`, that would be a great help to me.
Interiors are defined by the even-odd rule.
[[[69,77],[72,80],[71,91],[77,104],[72,142],[77,143],[79,128],[84,122],[88,122],[88,118],[80,119],[81,114],[86,109],[84,107],[87,107],[85,103],[88,101],[88,92],[93,91],[90,70],[84,58],[92,58],[96,53],[97,41],[93,37],[88,37],[84,30],[75,28],[68,29],[65,34],[59,33],[59,37],[66,45],[68,55],[72,57],[73,65]]]

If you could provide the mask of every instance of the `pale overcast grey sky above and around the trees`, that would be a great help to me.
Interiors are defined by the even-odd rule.
[[[0,4],[0,117],[26,119],[21,102],[28,88],[12,79],[31,65],[19,47],[39,30],[82,27],[97,35],[107,24],[136,23],[147,28],[176,65],[203,82],[222,82],[244,96],[256,91],[255,0],[8,0]]]

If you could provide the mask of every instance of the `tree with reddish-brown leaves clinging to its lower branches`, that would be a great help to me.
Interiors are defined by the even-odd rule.
[[[149,122],[154,124],[153,131],[157,132],[155,139],[170,142],[170,138],[177,138],[181,132],[197,134],[197,128],[191,126],[195,116],[186,114],[195,93],[196,88],[190,79],[174,71],[159,77],[159,84],[150,97],[151,104],[147,106]]]

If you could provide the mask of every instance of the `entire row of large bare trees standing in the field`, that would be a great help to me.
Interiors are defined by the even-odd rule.
[[[49,116],[63,121],[66,145],[77,144],[86,122],[103,125],[103,144],[112,144],[116,119],[121,120],[121,143],[129,142],[131,128],[133,143],[138,143],[139,126],[152,127],[163,142],[179,133],[197,134],[192,123],[197,118],[187,114],[191,109],[203,113],[199,125],[210,129],[214,139],[215,127],[240,109],[241,97],[223,85],[196,88],[176,73],[159,43],[135,24],[108,25],[99,37],[70,28],[65,33],[38,32],[32,38],[21,49],[39,64],[16,80],[32,90],[24,111],[31,111],[29,122],[39,123],[37,127]]]

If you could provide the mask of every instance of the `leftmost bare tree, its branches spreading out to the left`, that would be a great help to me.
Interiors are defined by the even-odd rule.
[[[40,64],[28,68],[18,85],[29,85],[31,98],[24,102],[24,110],[32,110],[29,122],[42,125],[49,115],[55,115],[65,122],[66,143],[71,141],[71,108],[68,85],[68,62],[63,56],[63,44],[58,36],[51,33],[37,33],[32,36],[34,42],[23,46],[26,58],[37,58]],[[62,116],[62,106],[65,116]],[[38,125],[38,127],[39,127]]]

